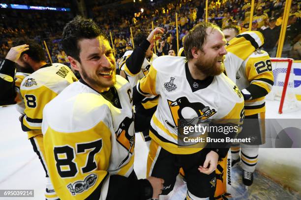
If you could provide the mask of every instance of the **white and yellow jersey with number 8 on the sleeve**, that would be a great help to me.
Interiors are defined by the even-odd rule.
[[[25,116],[21,124],[26,127],[28,138],[42,134],[44,106],[74,81],[77,78],[70,68],[60,63],[40,68],[23,79],[20,92],[25,103]]]

